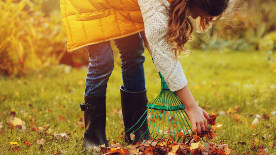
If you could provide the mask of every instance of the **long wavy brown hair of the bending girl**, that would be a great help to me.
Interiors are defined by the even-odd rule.
[[[192,5],[197,5],[204,12],[214,17],[199,17],[196,26],[199,31],[206,31],[218,20],[226,10],[229,0],[173,0],[169,19],[168,43],[173,47],[172,54],[177,57],[180,53],[190,54],[183,45],[190,39],[194,30],[193,22],[188,17]]]

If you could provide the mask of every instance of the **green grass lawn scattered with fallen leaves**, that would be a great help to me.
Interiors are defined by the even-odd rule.
[[[160,93],[160,78],[147,52],[145,56],[147,96],[152,102]],[[124,127],[120,112],[120,60],[117,53],[114,57],[116,63],[106,95],[106,137],[110,142],[124,143],[121,139]],[[256,154],[257,151],[250,149],[254,142],[254,136],[251,135],[259,133],[256,136],[258,145],[267,148],[269,155],[276,154],[276,147],[271,147],[276,142],[276,115],[271,114],[276,111],[276,74],[269,68],[266,53],[193,51],[192,55],[180,62],[198,105],[209,114],[226,113],[217,117],[216,123],[222,126],[216,130],[217,139],[213,142],[228,144],[237,155],[245,151]],[[84,99],[86,72],[86,67],[72,69],[69,73],[59,68],[20,79],[0,77],[0,154],[46,155],[59,150],[63,154],[90,154],[82,151],[84,128],[77,126],[77,122],[83,118],[79,104]],[[238,110],[234,110],[236,106],[240,106]],[[26,123],[27,130],[20,131],[9,126],[12,108],[16,110],[16,117]],[[114,109],[118,114],[114,113]],[[233,119],[235,114],[241,115],[240,121]],[[255,128],[249,127],[256,114],[269,115],[270,119],[260,119]],[[267,124],[272,127],[267,128]],[[52,133],[71,133],[69,141],[56,140],[51,134],[32,131],[33,127],[39,126],[51,128]],[[273,138],[262,139],[264,134]],[[45,139],[42,146],[35,144],[40,138]],[[30,141],[32,146],[25,146],[23,141]],[[246,145],[234,144],[239,141],[244,141]],[[8,142],[17,142],[19,145],[13,146]],[[15,147],[20,148],[18,153],[12,151]]]

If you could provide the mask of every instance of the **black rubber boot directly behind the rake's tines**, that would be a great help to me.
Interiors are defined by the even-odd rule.
[[[125,125],[125,134],[127,137],[126,140],[130,144],[135,144],[138,142],[139,138],[146,132],[140,139],[140,142],[143,142],[143,140],[147,139],[150,135],[148,130],[148,124],[147,124],[147,112],[144,114],[144,112],[147,109],[146,89],[142,92],[132,93],[132,92],[124,91],[124,87],[121,86],[120,91],[121,91],[123,119],[124,119],[124,125]],[[138,122],[140,118],[141,120]],[[145,122],[143,123],[144,120]],[[137,122],[138,124],[136,124]],[[130,131],[128,131],[133,125],[135,126]],[[139,126],[141,127],[138,129]],[[132,141],[130,138],[130,134],[136,129],[138,130],[134,132],[135,139],[134,141]]]

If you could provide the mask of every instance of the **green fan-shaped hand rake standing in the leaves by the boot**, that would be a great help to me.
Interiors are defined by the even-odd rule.
[[[140,32],[140,34],[144,40],[145,45],[147,46],[147,49],[148,49],[150,55],[152,56],[148,42],[146,41],[144,31]],[[150,135],[146,139],[146,140],[149,140],[151,135],[153,135],[153,140],[151,141],[151,143],[158,137],[158,134],[157,135],[153,134],[153,132],[155,130],[157,130],[157,132],[159,132],[159,131],[162,132],[162,136],[161,137],[159,136],[158,143],[160,142],[160,140],[162,138],[172,138],[172,141],[176,141],[176,142],[179,142],[179,140],[181,138],[182,138],[182,141],[192,138],[194,134],[192,132],[190,124],[188,123],[188,119],[187,119],[188,117],[184,110],[185,106],[180,101],[180,99],[178,98],[176,93],[170,91],[162,74],[159,71],[158,71],[158,73],[161,78],[161,92],[155,98],[155,100],[152,102],[152,104],[147,104],[146,111],[141,116],[141,118],[138,120],[138,122],[133,125],[133,127],[136,126],[140,121],[142,121],[142,124],[145,121],[148,121],[148,119],[152,115],[152,117],[150,118],[148,128],[147,128],[147,130],[149,130],[149,128],[152,126],[152,132],[150,132]],[[147,112],[148,112],[148,114],[147,114]],[[147,114],[147,117],[145,117],[145,119],[142,119],[142,117],[146,114]],[[168,125],[166,125],[166,132],[169,131],[169,137],[167,134],[165,134],[165,124],[168,124]],[[133,132],[134,135],[135,135],[135,132],[141,126],[142,125],[140,125]],[[133,127],[131,127],[128,131],[130,131]],[[144,132],[144,134],[145,133],[146,132]],[[143,135],[139,138],[138,141],[140,141],[140,139],[143,137]],[[145,142],[146,141],[144,141],[144,143]]]

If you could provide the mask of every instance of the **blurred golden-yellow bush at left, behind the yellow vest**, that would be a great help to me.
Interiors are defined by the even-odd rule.
[[[0,1],[0,72],[22,76],[56,65],[66,52],[58,11],[45,17],[43,0]]]

